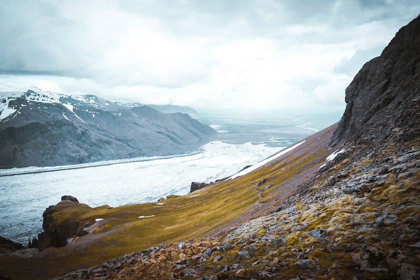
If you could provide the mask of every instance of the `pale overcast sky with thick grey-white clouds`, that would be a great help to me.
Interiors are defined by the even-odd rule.
[[[418,0],[0,0],[0,88],[242,108],[343,108]]]

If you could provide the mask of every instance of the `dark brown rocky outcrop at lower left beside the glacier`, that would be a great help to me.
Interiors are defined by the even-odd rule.
[[[63,197],[65,199],[63,199]],[[94,219],[89,218],[85,220],[76,220],[71,217],[62,221],[54,219],[54,212],[62,210],[61,208],[65,206],[71,208],[71,204],[74,203],[79,204],[77,198],[70,195],[64,195],[61,197],[61,199],[61,202],[56,205],[49,206],[42,213],[43,231],[38,234],[38,238],[33,238],[31,242],[29,241],[29,248],[36,247],[39,250],[43,250],[47,247],[62,247],[67,244],[67,239],[74,238],[76,236],[83,236],[88,233],[84,230],[84,228],[93,224],[95,222]]]

